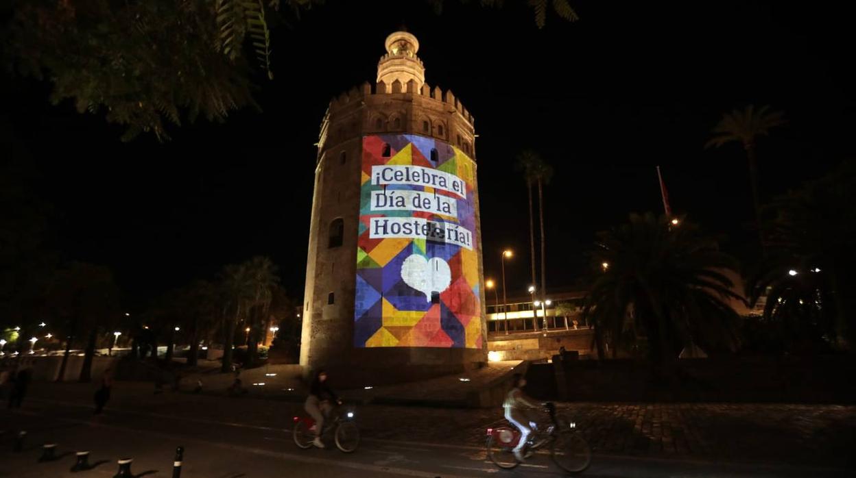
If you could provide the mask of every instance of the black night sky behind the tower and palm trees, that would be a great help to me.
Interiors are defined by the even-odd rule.
[[[295,298],[303,292],[318,127],[330,97],[374,80],[383,39],[419,38],[432,87],[451,89],[476,119],[485,275],[508,263],[522,292],[524,148],[556,168],[546,190],[548,286],[586,268],[594,233],[630,211],[662,212],[655,166],[676,212],[752,254],[746,160],[738,145],[704,150],[723,111],[782,109],[788,125],[758,145],[771,198],[853,156],[852,20],[838,7],[781,2],[572,4],[576,23],[538,30],[523,2],[483,9],[449,0],[328,0],[274,34],[276,80],[259,79],[263,112],[119,142],[122,128],[51,106],[49,87],[11,79],[0,124],[36,162],[63,257],[109,265],[131,307],[225,263],[270,255]],[[366,4],[372,5],[366,7]]]

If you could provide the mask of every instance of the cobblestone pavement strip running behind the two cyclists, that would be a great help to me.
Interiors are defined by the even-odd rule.
[[[33,384],[35,403],[89,406],[93,386]],[[302,404],[165,392],[151,384],[117,382],[108,404],[152,416],[193,416],[251,427],[289,428]],[[363,436],[374,440],[484,446],[484,430],[502,422],[500,409],[438,409],[366,405]],[[560,405],[596,453],[728,463],[787,463],[856,468],[856,406],[801,404]]]

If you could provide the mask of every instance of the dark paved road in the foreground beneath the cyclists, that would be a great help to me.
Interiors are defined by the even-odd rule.
[[[548,457],[534,457],[531,463],[508,472],[486,462],[478,446],[429,443],[418,440],[383,440],[371,434],[360,450],[346,455],[335,450],[298,450],[291,442],[288,422],[259,421],[253,414],[255,400],[175,394],[166,398],[119,401],[105,416],[93,419],[84,396],[71,393],[61,397],[39,393],[25,408],[15,413],[0,412],[0,476],[98,477],[116,474],[116,459],[133,457],[134,475],[170,476],[175,446],[186,448],[182,477],[383,477],[411,476],[434,478],[561,476]],[[199,412],[188,405],[199,404]],[[217,408],[219,407],[219,410]],[[213,410],[212,410],[213,409]],[[359,410],[358,410],[359,413]],[[437,412],[435,410],[434,413]],[[283,417],[284,418],[284,417]],[[366,429],[371,430],[370,424]],[[15,430],[27,429],[25,451],[12,453]],[[374,434],[380,436],[382,434]],[[401,434],[398,434],[401,437]],[[71,456],[59,462],[36,463],[39,446],[56,442],[60,454],[76,450],[92,451],[91,461],[106,460],[96,469],[70,474]],[[748,477],[748,476],[841,476],[843,469],[740,465],[615,457],[599,454],[586,472],[591,477]]]

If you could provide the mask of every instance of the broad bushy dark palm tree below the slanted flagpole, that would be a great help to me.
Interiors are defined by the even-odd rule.
[[[723,274],[736,269],[734,258],[693,224],[670,227],[669,220],[632,214],[627,224],[598,233],[593,257],[601,272],[583,310],[595,326],[601,357],[604,340],[615,357],[635,328],[648,337],[657,373],[670,369],[681,346],[733,348],[738,316],[727,301],[742,300]]]

